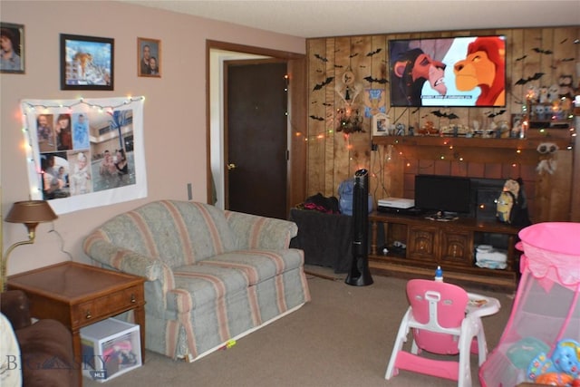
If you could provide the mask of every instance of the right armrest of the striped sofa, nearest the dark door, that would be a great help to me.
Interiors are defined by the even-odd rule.
[[[237,236],[238,248],[284,249],[298,234],[298,227],[288,220],[266,218],[226,211],[229,227]]]

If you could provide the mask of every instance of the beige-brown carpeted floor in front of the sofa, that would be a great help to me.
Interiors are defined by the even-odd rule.
[[[108,387],[131,386],[455,386],[456,382],[400,372],[383,379],[401,317],[408,307],[406,280],[373,276],[369,286],[344,284],[345,275],[307,266],[312,302],[263,329],[194,363],[147,352],[139,369],[111,379]],[[333,279],[335,278],[335,279]],[[507,323],[513,294],[467,288],[495,296],[502,308],[483,319],[491,351]],[[479,386],[477,356],[471,357]],[[103,385],[83,378],[85,386]]]

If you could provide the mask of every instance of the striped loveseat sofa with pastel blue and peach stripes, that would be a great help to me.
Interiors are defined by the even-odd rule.
[[[189,361],[310,300],[295,223],[159,200],[85,238],[101,266],[147,278],[146,348]]]

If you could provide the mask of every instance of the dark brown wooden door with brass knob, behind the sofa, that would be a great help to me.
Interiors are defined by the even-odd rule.
[[[226,208],[285,219],[286,63],[231,61],[225,67]]]

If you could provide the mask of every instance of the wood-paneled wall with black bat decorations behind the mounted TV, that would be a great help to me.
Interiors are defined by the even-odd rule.
[[[507,179],[522,177],[530,199],[532,218],[537,221],[567,221],[578,219],[580,214],[571,213],[571,197],[574,181],[580,179],[580,171],[574,170],[577,147],[566,147],[556,152],[557,169],[554,174],[538,174],[536,165],[540,154],[531,144],[523,150],[509,147],[480,147],[472,145],[449,147],[401,145],[382,141],[372,150],[371,117],[363,117],[362,131],[346,134],[340,131],[338,111],[343,108],[340,89],[343,73],[350,70],[355,82],[367,89],[382,89],[382,100],[391,122],[402,122],[408,128],[420,128],[433,108],[391,108],[389,83],[372,80],[389,80],[388,43],[391,39],[432,38],[503,34],[507,41],[506,108],[494,118],[489,118],[490,108],[449,108],[459,116],[453,123],[470,125],[481,122],[487,128],[492,121],[511,121],[511,114],[521,113],[526,101],[528,86],[549,86],[557,83],[562,74],[573,75],[578,85],[576,63],[580,63],[580,26],[557,28],[490,29],[477,31],[450,31],[418,34],[380,34],[365,36],[341,36],[307,40],[308,65],[308,124],[304,140],[307,141],[307,194],[317,192],[325,196],[338,196],[337,187],[343,179],[353,176],[357,169],[371,172],[371,193],[376,201],[388,196],[412,198],[413,177],[416,173],[444,173],[469,177]],[[537,53],[540,48],[544,52]],[[535,73],[544,75],[526,85],[516,85],[518,79]],[[365,79],[366,78],[366,79]],[[361,113],[364,106],[371,106],[366,97],[358,94],[355,104]],[[375,102],[376,103],[376,102]],[[443,123],[441,123],[442,125]],[[511,125],[511,123],[510,123]],[[547,134],[549,139],[549,133]],[[558,134],[561,137],[560,134]],[[443,138],[441,138],[443,139]],[[572,139],[575,140],[575,139]],[[577,140],[576,140],[577,142]],[[575,156],[576,154],[576,156]]]

